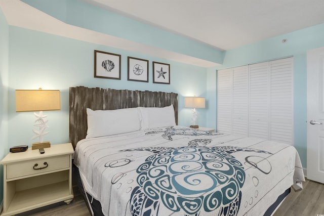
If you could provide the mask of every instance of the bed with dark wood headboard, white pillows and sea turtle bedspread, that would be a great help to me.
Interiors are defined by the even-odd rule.
[[[271,215],[302,189],[293,146],[179,126],[177,108],[175,93],[70,88],[73,161],[94,215]]]

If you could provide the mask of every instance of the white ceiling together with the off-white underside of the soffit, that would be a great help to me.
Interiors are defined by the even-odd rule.
[[[83,0],[221,50],[324,23],[324,0]],[[139,44],[55,19],[19,0],[0,0],[9,25],[201,67],[218,63]],[[284,38],[282,38],[284,39]]]

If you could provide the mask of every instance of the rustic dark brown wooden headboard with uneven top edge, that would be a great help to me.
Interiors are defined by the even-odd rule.
[[[87,135],[87,108],[113,110],[132,107],[165,107],[173,104],[178,124],[178,94],[150,91],[71,87],[69,142],[75,148]]]

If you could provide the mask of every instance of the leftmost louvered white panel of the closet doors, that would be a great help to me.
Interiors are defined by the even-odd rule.
[[[232,69],[217,71],[217,132],[232,134]]]

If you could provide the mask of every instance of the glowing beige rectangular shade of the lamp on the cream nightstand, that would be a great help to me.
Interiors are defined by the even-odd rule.
[[[60,109],[59,90],[16,90],[16,112]]]

